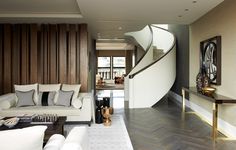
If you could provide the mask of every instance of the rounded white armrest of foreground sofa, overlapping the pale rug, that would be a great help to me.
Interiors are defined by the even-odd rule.
[[[74,127],[66,137],[61,150],[88,150],[88,140],[87,127]]]

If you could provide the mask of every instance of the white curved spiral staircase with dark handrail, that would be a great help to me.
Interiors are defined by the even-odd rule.
[[[151,107],[164,97],[176,77],[176,39],[168,30],[148,25],[129,32],[146,52],[125,77],[125,100],[129,108]]]

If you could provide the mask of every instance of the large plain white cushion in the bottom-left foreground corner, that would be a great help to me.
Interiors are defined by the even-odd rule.
[[[47,126],[0,131],[2,150],[42,150]]]

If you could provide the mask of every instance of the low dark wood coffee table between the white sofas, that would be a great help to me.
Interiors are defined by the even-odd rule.
[[[30,124],[30,122],[18,122],[17,125],[15,125],[12,128],[8,128],[4,125],[2,125],[0,127],[0,131],[3,130],[12,130],[12,129],[21,129],[21,128],[25,128],[25,127],[32,127],[32,126],[36,126],[36,125],[45,125],[47,126],[47,129],[45,131],[45,135],[44,135],[44,143],[46,143],[48,141],[48,139],[53,135],[53,134],[62,134],[64,135],[64,124],[66,121],[66,117],[64,116],[60,116],[58,117],[58,120],[54,123],[54,124]]]

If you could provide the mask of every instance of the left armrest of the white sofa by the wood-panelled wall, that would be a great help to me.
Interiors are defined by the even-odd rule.
[[[8,93],[0,96],[0,109],[9,109],[16,105],[15,93]]]

